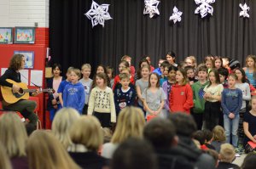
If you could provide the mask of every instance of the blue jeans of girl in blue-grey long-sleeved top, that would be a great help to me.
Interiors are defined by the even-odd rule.
[[[238,144],[238,125],[239,125],[239,115],[236,115],[234,119],[230,119],[228,115],[224,115],[224,129],[227,137],[227,143],[230,144],[230,134],[232,137],[232,145],[237,147]]]

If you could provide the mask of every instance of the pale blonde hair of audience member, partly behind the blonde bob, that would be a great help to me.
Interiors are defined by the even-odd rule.
[[[52,132],[64,146],[64,149],[67,149],[72,144],[69,137],[69,129],[79,119],[79,116],[79,112],[73,108],[62,108],[55,115],[52,123]]]

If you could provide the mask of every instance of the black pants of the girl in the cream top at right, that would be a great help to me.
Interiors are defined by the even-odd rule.
[[[204,120],[206,128],[210,131],[219,123],[219,115],[221,115],[220,102],[206,102]]]

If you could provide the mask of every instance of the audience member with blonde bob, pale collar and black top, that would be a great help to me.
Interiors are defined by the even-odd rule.
[[[69,131],[73,142],[68,147],[69,155],[83,168],[103,168],[107,159],[97,154],[103,144],[100,121],[95,116],[82,115]]]

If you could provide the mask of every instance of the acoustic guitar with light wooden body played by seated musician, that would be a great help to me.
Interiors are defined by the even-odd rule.
[[[28,89],[26,83],[24,82],[15,82],[10,79],[6,79],[7,82],[15,84],[20,87],[18,93],[14,93],[12,87],[4,87],[1,86],[1,93],[3,99],[8,104],[15,104],[20,99],[29,99],[29,93],[34,93],[37,89]],[[54,89],[47,88],[47,89],[39,89],[39,92],[46,92],[46,93],[55,93]]]

